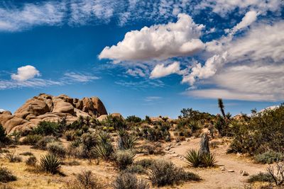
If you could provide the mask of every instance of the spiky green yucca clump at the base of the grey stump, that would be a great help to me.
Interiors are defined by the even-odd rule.
[[[200,154],[200,151],[197,151],[195,149],[191,149],[187,152],[185,155],[185,160],[187,164],[190,164],[190,166],[198,167],[198,166],[215,166],[217,163],[215,155],[212,153],[208,154]]]

